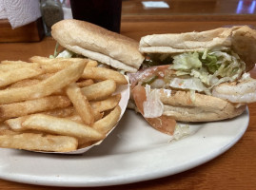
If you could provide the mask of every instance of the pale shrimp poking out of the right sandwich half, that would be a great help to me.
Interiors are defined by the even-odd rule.
[[[256,102],[256,80],[244,74],[237,83],[224,83],[212,89],[212,95],[231,103],[249,104]]]

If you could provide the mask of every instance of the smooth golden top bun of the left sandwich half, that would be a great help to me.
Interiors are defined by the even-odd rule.
[[[51,35],[77,54],[128,72],[136,72],[144,60],[138,42],[88,22],[62,20],[52,26]]]

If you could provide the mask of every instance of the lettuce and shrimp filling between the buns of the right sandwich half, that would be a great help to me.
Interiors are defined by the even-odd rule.
[[[165,106],[160,101],[160,89],[167,96],[175,91],[189,91],[191,102],[195,101],[195,93],[215,96],[237,106],[256,101],[256,80],[250,78],[246,63],[231,50],[148,54],[143,68],[128,76],[131,89],[136,85],[146,88],[145,118],[163,114]],[[134,93],[136,90],[132,91],[133,98]]]

